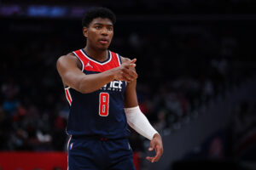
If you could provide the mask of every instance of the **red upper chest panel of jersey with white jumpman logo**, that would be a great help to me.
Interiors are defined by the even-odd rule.
[[[110,52],[110,59],[103,63],[97,62],[95,59],[90,59],[81,49],[73,53],[83,62],[85,71],[103,72],[119,66],[118,55],[113,52]]]

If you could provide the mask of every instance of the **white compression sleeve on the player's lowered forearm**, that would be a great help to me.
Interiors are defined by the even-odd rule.
[[[154,127],[148,122],[146,116],[140,110],[139,106],[125,108],[125,114],[127,122],[137,133],[143,135],[143,137],[152,140],[154,134],[157,133]]]

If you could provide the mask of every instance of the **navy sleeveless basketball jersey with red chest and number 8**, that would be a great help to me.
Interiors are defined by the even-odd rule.
[[[86,75],[98,74],[121,65],[119,54],[108,51],[104,62],[92,59],[83,49],[73,54],[82,63]],[[73,88],[65,88],[70,113],[67,133],[71,135],[102,136],[109,139],[129,136],[124,111],[124,92],[126,82],[109,82],[90,94],[81,94]]]

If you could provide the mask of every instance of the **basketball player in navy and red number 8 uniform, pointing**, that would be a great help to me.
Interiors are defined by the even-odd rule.
[[[136,59],[108,50],[115,15],[108,8],[93,8],[84,15],[86,46],[57,60],[70,114],[67,133],[69,170],[132,170],[128,124],[150,141],[148,150],[160,159],[160,134],[140,111],[137,102]]]

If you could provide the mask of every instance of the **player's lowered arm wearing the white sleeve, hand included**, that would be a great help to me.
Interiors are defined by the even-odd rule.
[[[121,58],[122,62],[131,62],[131,59]],[[132,68],[135,69],[135,68]],[[140,133],[145,138],[150,140],[149,151],[155,150],[156,155],[154,157],[147,156],[148,161],[159,161],[160,156],[163,154],[163,144],[159,133],[156,132],[154,127],[148,122],[147,117],[140,110],[137,102],[136,92],[137,80],[128,82],[125,88],[125,114],[128,124],[137,133]]]

